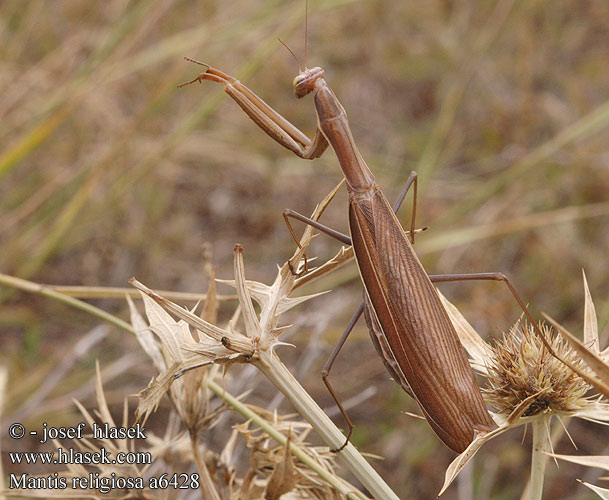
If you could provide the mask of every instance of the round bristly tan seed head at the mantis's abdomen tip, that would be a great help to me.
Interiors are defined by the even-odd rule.
[[[565,361],[584,368],[577,353],[551,329],[542,331],[554,352]],[[499,413],[510,414],[525,399],[531,398],[522,416],[539,413],[571,413],[589,406],[585,397],[589,385],[545,348],[533,327],[514,325],[492,346],[488,366],[489,387],[483,389],[487,401]]]

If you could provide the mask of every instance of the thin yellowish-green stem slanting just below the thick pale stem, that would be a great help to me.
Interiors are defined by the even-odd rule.
[[[247,405],[243,404],[239,399],[235,398],[233,395],[226,392],[226,389],[221,385],[217,384],[213,380],[209,380],[207,386],[210,390],[216,394],[216,396],[222,398],[226,403],[228,403],[233,409],[238,411],[241,415],[243,415],[248,420],[251,420],[257,427],[262,429],[266,434],[271,436],[275,441],[279,444],[284,445],[287,442],[287,437],[279,432],[275,427],[269,425],[269,422],[264,418],[260,417],[257,413],[253,412]],[[319,464],[308,455],[305,450],[303,450],[298,445],[294,443],[290,443],[290,453],[298,458],[303,464],[309,467],[311,470],[315,471],[315,473],[328,484],[332,485],[337,491],[340,491],[347,495],[347,498],[351,498],[354,500],[362,500],[366,499],[364,495],[362,495],[359,491],[354,491],[352,489],[347,489],[346,484],[342,481],[338,481],[336,476],[329,473],[326,469],[319,466]]]

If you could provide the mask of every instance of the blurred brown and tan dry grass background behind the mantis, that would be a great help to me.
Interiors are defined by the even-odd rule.
[[[325,68],[389,199],[419,172],[418,225],[431,229],[416,248],[429,272],[504,271],[535,315],[580,331],[584,268],[605,339],[608,22],[602,0],[312,0],[307,61]],[[312,134],[311,99],[293,97],[296,64],[277,41],[302,58],[303,27],[301,1],[2,2],[0,271],[55,285],[122,287],[137,276],[204,292],[203,244],[218,277],[231,278],[239,242],[249,278],[271,280],[293,249],[282,209],[311,212],[340,179],[336,159],[300,160],[221,88],[176,84],[200,71],[182,57],[201,59]],[[344,192],[324,220],[346,230]],[[337,248],[326,237],[312,247],[321,257]],[[282,352],[330,407],[319,370],[361,298],[354,265],[332,278],[309,289],[334,292],[296,312],[298,349]],[[485,335],[520,314],[500,284],[442,290]],[[152,375],[118,330],[48,299],[0,294],[7,418],[76,421],[70,398],[90,403],[96,357],[116,403]],[[94,303],[127,317],[120,296]],[[385,457],[376,466],[403,498],[435,497],[452,454],[400,413],[415,405],[387,381],[363,322],[353,337],[334,386],[346,400],[374,389],[350,410],[354,441]],[[250,398],[266,406],[272,394],[260,381]],[[580,453],[607,453],[597,426],[571,430]],[[529,449],[520,440],[512,433],[483,449],[462,494],[474,482],[492,498],[518,498]],[[550,465],[549,477],[545,498],[592,498],[574,478],[594,481],[594,472]]]

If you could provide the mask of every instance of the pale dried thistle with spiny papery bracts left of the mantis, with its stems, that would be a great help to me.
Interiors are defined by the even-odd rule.
[[[340,185],[322,201],[313,214],[313,218],[321,215],[339,187]],[[224,328],[216,326],[192,311],[161,297],[136,280],[131,281],[142,292],[149,322],[148,325],[140,318],[134,320],[134,326],[137,321],[138,334],[144,333],[146,330],[154,332],[156,339],[160,342],[160,348],[158,348],[160,355],[159,353],[154,354],[156,358],[159,358],[156,364],[160,374],[139,394],[139,415],[143,418],[150,415],[155,410],[161,397],[171,391],[175,382],[179,381],[185,374],[198,371],[202,367],[222,365],[226,368],[238,363],[249,363],[258,368],[284,393],[298,412],[315,427],[321,438],[330,447],[336,448],[344,442],[343,434],[304,391],[281,363],[275,352],[275,347],[282,344],[280,341],[282,333],[288,328],[280,324],[280,316],[289,309],[319,295],[290,296],[302,283],[302,278],[298,277],[298,271],[302,269],[305,249],[312,237],[313,229],[308,227],[300,241],[299,248],[292,258],[279,268],[272,285],[246,279],[243,249],[240,245],[235,246],[235,279],[224,281],[224,283],[235,287],[239,299],[239,309],[238,314]],[[311,274],[315,273],[316,277],[321,276],[324,272],[329,272],[328,270],[341,265],[349,258],[347,253],[341,252],[337,259],[332,261],[331,265],[322,266],[323,269],[319,268],[320,272],[315,273],[313,271]],[[256,312],[252,301],[259,305],[259,313]],[[242,318],[241,322],[238,322],[239,316]],[[156,342],[156,339],[153,340]],[[148,350],[152,352],[150,347],[148,347],[147,352]],[[155,358],[153,357],[153,359]],[[207,379],[207,386],[216,392],[216,389],[213,388],[215,382],[210,377]],[[241,413],[247,415],[243,405],[239,405],[230,395],[226,395],[222,388],[219,388],[216,394],[225,399],[231,406],[239,408]],[[182,412],[180,411],[180,413]],[[256,423],[263,426],[260,421],[256,421]],[[275,429],[264,428],[265,432],[269,432],[281,446],[285,447],[286,450],[289,449],[290,453],[298,457],[309,468],[314,469],[320,478],[330,482],[341,495],[348,498],[365,498],[361,492],[345,484],[344,481],[321,467],[318,457],[311,456],[308,448],[298,446],[293,439],[288,447],[286,446],[287,438],[284,435],[276,432]],[[294,436],[292,435],[292,437]],[[341,458],[376,498],[397,500],[397,496],[352,445],[343,450]],[[284,474],[283,479],[279,481],[279,486],[273,489],[274,493],[270,494],[269,498],[276,496],[278,491],[283,491],[287,487],[286,484],[291,484],[288,476],[290,474]],[[286,478],[288,478],[287,482]],[[277,481],[274,480],[274,483],[277,484]],[[290,494],[287,493],[286,495]]]

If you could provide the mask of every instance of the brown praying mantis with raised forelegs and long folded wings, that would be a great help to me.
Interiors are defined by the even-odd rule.
[[[353,424],[344,411],[328,375],[338,351],[362,312],[374,346],[385,367],[418,402],[438,437],[451,449],[464,451],[475,435],[496,427],[482,399],[473,371],[454,326],[432,283],[459,280],[496,280],[506,284],[527,319],[539,328],[503,273],[428,275],[400,225],[395,211],[414,186],[410,237],[414,242],[417,176],[412,172],[394,209],[375,182],[351,134],[347,115],[324,79],[322,68],[302,71],[294,79],[294,92],[301,98],[312,93],[317,128],[309,139],[235,78],[207,64],[190,82],[209,80],[223,85],[226,93],[272,139],[304,159],[318,158],[332,147],[349,192],[350,236],[334,231],[291,210],[284,218],[306,222],[347,245],[353,245],[364,285],[364,303],[351,319],[338,346],[322,371],[323,380],[344,416],[349,431]],[[297,240],[298,241],[298,240]]]

